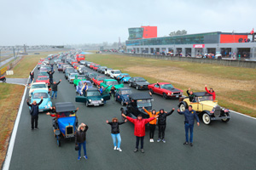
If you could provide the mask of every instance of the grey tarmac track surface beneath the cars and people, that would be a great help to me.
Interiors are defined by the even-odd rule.
[[[55,68],[55,70],[57,70]],[[90,70],[90,69],[88,69]],[[35,71],[37,74],[37,71]],[[63,73],[54,74],[55,81],[62,80],[55,102],[71,101],[79,107],[79,123],[89,126],[87,131],[88,160],[78,161],[78,151],[74,141],[56,144],[53,135],[52,117],[41,113],[38,130],[31,130],[30,115],[26,103],[20,117],[11,158],[11,170],[16,169],[255,169],[256,168],[256,120],[231,113],[230,122],[212,122],[194,128],[194,146],[183,145],[185,140],[184,116],[174,111],[167,117],[166,144],[158,139],[158,128],[154,133],[154,143],[149,143],[148,128],[144,139],[145,153],[134,153],[135,136],[133,124],[126,122],[120,126],[122,152],[113,150],[110,126],[106,123],[117,116],[121,119],[121,105],[113,99],[100,107],[87,108],[75,102],[75,88],[68,83]],[[125,87],[128,87],[127,84]],[[135,88],[131,88],[137,92]],[[202,89],[203,90],[203,89]],[[143,91],[148,93],[148,91]],[[26,98],[28,94],[26,94]],[[177,109],[177,99],[162,99],[154,94],[153,109],[171,111]],[[217,96],[218,97],[218,96]],[[83,151],[82,151],[83,154]]]

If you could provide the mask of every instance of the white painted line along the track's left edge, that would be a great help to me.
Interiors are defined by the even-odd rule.
[[[37,66],[38,65],[36,65],[35,68]],[[33,71],[35,70],[35,68],[33,69]],[[27,82],[28,81],[29,81],[29,77],[27,78]],[[24,85],[24,84],[19,84],[19,85]],[[6,156],[5,156],[5,160],[3,161],[3,170],[9,170],[9,164],[10,164],[10,161],[11,161],[11,158],[12,158],[12,155],[13,155],[16,134],[17,134],[17,130],[18,130],[18,127],[19,127],[20,116],[21,116],[22,107],[23,107],[23,104],[24,104],[24,100],[25,100],[25,96],[26,96],[26,90],[27,90],[26,85],[24,85],[24,86],[25,86],[25,90],[24,90],[24,93],[23,93],[23,96],[22,96],[22,99],[21,99],[21,102],[20,102],[19,111],[18,111],[16,120],[15,120],[15,126],[13,128],[12,133],[11,133],[11,137],[10,137],[10,140],[9,140],[9,146],[8,146],[8,150],[7,150],[7,153],[6,153]]]

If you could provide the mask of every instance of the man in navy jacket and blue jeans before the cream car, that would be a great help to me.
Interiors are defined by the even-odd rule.
[[[197,126],[200,125],[199,118],[196,115],[196,111],[192,109],[192,105],[189,105],[189,109],[186,109],[185,111],[180,111],[177,109],[177,113],[180,115],[185,116],[185,132],[186,132],[186,142],[184,144],[190,144],[190,146],[193,146],[193,129],[194,129],[194,123],[195,120],[197,122]],[[190,132],[190,138],[189,138],[189,132]]]

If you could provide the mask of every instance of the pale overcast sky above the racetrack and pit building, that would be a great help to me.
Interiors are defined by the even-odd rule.
[[[248,32],[255,0],[0,0],[0,45],[122,42],[129,27]]]

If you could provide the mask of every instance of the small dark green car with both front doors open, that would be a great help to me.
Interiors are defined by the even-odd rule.
[[[76,96],[76,102],[83,102],[87,107],[90,105],[104,105],[104,101],[108,99],[110,99],[110,95],[108,93],[100,94],[97,88],[88,88],[83,96]]]

